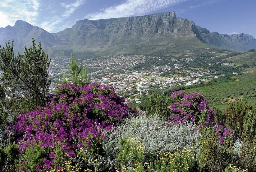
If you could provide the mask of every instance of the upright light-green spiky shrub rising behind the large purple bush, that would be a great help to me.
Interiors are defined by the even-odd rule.
[[[71,60],[69,59],[69,74],[72,78],[72,83],[77,86],[83,86],[84,84],[89,83],[89,79],[87,78],[88,70],[87,67],[79,67],[76,55],[71,54]],[[63,75],[63,82],[65,82],[65,74]]]

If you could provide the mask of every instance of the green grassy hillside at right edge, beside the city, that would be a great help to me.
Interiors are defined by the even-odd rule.
[[[229,82],[213,84],[211,86],[186,89],[187,93],[201,93],[209,101],[211,107],[216,106],[224,110],[229,102],[235,99],[248,100],[256,103],[256,72],[243,73],[233,76]]]

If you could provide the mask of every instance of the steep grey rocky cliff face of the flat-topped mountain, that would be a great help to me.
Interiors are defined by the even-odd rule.
[[[104,20],[79,20],[55,35],[73,45],[114,45],[119,40],[148,40],[196,37],[194,21],[177,18],[175,12]]]

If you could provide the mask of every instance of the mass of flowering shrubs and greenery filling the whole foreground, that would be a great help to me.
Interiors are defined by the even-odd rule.
[[[12,54],[12,46],[6,46]],[[40,46],[33,44],[33,49],[41,52]],[[1,67],[5,52],[0,47]],[[147,112],[137,111],[114,88],[86,84],[86,71],[73,55],[69,69],[73,84],[65,83],[64,76],[55,94],[42,97],[37,108],[26,96],[6,98],[10,86],[1,85],[0,171],[256,171],[254,105],[237,101],[223,113],[211,109],[200,93],[174,91],[151,94]],[[237,78],[208,84],[224,80]]]

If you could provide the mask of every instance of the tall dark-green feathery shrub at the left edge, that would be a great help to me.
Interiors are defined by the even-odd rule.
[[[24,49],[24,54],[14,55],[13,41],[6,42],[6,48],[0,46],[0,70],[3,71],[0,81],[7,88],[6,94],[16,100],[26,100],[28,110],[33,110],[45,103],[50,87],[48,69],[51,60],[42,50],[41,43],[36,48],[35,39],[32,39],[32,46]]]

